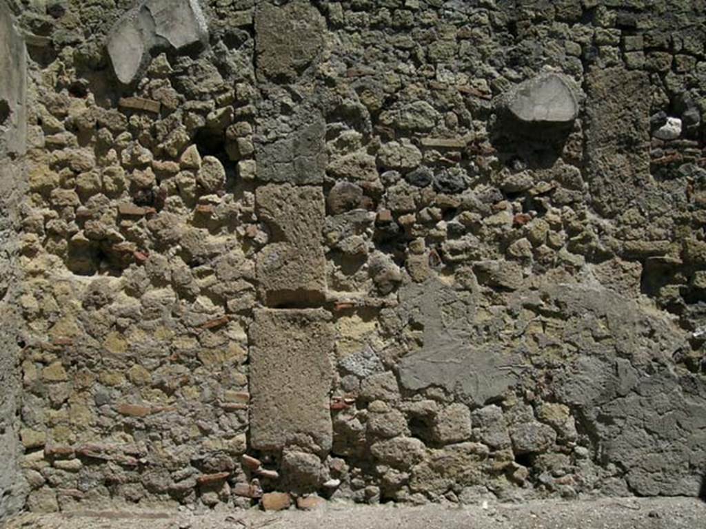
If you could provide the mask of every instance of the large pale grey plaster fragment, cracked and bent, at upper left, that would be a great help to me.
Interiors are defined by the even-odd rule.
[[[107,41],[113,70],[132,83],[156,49],[183,49],[208,39],[198,0],[143,0],[118,20]]]

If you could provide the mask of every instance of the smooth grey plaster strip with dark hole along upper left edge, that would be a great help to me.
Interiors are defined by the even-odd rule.
[[[0,3],[0,158],[25,152],[26,77],[25,42],[13,25],[9,8]]]

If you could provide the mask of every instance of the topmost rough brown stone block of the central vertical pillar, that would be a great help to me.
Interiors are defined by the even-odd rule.
[[[326,23],[308,1],[284,6],[260,3],[255,14],[258,74],[293,80],[323,49]]]

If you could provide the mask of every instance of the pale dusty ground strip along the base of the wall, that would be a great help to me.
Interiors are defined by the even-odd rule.
[[[604,498],[527,501],[462,508],[352,506],[331,503],[316,511],[77,511],[23,514],[6,529],[672,529],[702,527],[706,503],[693,498]]]

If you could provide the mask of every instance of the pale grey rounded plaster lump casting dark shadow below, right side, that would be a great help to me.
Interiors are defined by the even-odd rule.
[[[578,102],[556,73],[539,75],[517,86],[507,100],[510,113],[524,123],[568,124],[578,116]]]

